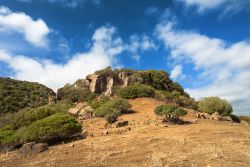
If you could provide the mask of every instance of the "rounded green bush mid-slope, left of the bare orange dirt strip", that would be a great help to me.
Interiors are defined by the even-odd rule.
[[[131,108],[131,104],[125,99],[114,99],[110,100],[102,105],[100,105],[95,111],[95,116],[105,117],[105,115],[109,113],[116,113],[117,115],[121,115],[127,113]]]

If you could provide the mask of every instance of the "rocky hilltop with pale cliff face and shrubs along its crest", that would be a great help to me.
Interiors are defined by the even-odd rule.
[[[136,83],[150,85],[158,90],[177,91],[180,94],[185,94],[183,88],[178,83],[173,82],[167,72],[156,70],[112,70],[111,67],[107,67],[96,71],[94,74],[89,74],[85,79],[80,79],[71,86],[87,88],[92,93],[112,95],[115,88]],[[59,96],[62,89],[59,89]]]

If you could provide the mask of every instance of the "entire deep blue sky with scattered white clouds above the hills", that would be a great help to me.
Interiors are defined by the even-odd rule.
[[[0,76],[56,90],[107,66],[166,70],[250,115],[250,0],[1,0]]]

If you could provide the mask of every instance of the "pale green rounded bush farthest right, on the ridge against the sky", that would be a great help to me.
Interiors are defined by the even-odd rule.
[[[218,112],[222,116],[230,115],[233,112],[231,104],[219,97],[205,97],[198,102],[198,110],[208,114]]]

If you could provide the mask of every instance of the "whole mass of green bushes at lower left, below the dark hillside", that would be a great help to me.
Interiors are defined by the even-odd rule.
[[[25,142],[56,142],[81,131],[73,117],[66,114],[71,104],[60,102],[13,113],[12,121],[0,129],[0,150]]]

